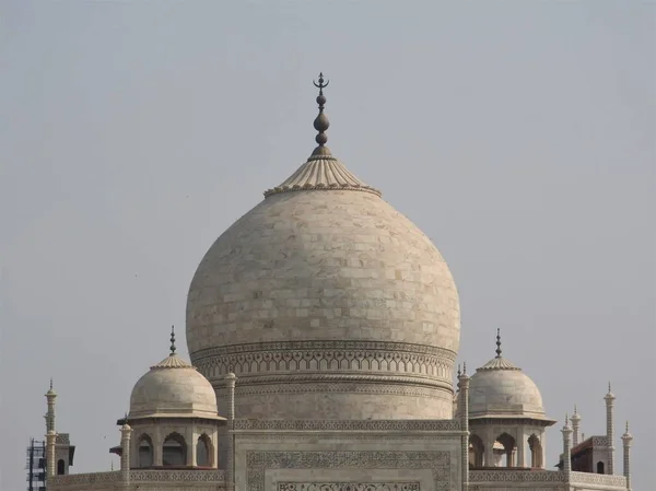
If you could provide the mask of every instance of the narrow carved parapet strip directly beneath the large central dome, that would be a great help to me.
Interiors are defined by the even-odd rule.
[[[460,431],[458,420],[235,420],[242,431]]]

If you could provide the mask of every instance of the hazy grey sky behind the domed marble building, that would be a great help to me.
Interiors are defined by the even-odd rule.
[[[574,404],[605,432],[611,379],[656,489],[655,7],[1,2],[2,491],[50,376],[73,470],[109,469],[203,254],[312,152],[319,70],[328,145],[454,272],[460,361],[503,329],[559,420],[549,466]]]

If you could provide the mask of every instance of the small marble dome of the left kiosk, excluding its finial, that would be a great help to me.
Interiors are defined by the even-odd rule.
[[[128,419],[157,417],[222,419],[212,384],[176,353],[151,366],[130,395]]]

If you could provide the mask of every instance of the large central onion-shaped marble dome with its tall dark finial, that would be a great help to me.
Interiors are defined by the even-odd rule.
[[[187,343],[238,418],[453,416],[458,293],[442,255],[326,147],[210,247],[191,281]],[[221,404],[222,397],[219,397]]]

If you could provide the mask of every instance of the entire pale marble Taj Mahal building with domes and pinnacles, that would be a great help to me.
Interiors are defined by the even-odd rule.
[[[488,363],[456,366],[447,264],[331,154],[328,82],[315,85],[316,148],[204,255],[187,299],[190,362],[173,329],[164,351],[163,332],[163,360],[117,421],[120,468],[71,474],[50,385],[47,490],[631,490],[632,436],[628,423],[616,433],[610,385],[606,429],[584,437],[577,411],[560,423],[546,412],[501,332]],[[557,424],[560,463],[548,463]]]

